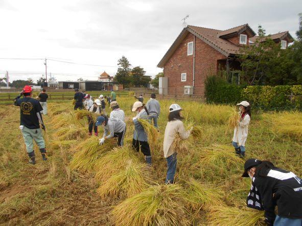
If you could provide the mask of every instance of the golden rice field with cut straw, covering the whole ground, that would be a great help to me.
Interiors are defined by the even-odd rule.
[[[130,111],[134,101],[118,98],[127,117],[134,116]],[[184,109],[185,122],[194,122],[202,131],[200,137],[188,140],[189,151],[178,155],[176,184],[163,185],[166,160],[162,140],[173,102],[160,101],[160,135],[158,142],[150,143],[151,168],[145,165],[142,154],[128,146],[132,120],[127,122],[123,148],[102,149],[96,145],[98,139],[88,138],[87,133],[79,133],[78,140],[67,140],[60,133],[66,128],[64,120],[79,131],[87,128],[85,119],[74,120],[71,101],[49,104],[50,113],[58,107],[66,110],[44,117],[49,160],[42,162],[35,146],[37,164],[30,165],[18,128],[19,108],[2,105],[0,224],[261,225],[262,212],[245,208],[250,179],[241,178],[244,161],[233,153],[233,132],[227,130],[232,106],[177,101]],[[60,127],[60,123],[64,125]],[[246,158],[270,160],[301,176],[301,128],[302,113],[252,111]]]

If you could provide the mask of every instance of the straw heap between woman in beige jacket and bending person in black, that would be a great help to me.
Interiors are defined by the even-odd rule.
[[[244,160],[239,158],[234,148],[229,145],[211,145],[202,148],[198,161],[193,165],[197,177],[208,181],[222,180],[229,177],[229,174],[240,174]]]

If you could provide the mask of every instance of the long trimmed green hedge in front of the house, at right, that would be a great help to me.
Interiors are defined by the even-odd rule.
[[[290,95],[293,95],[292,97]],[[238,86],[222,78],[208,77],[205,84],[207,103],[236,104],[248,101],[252,108],[263,110],[302,110],[302,85]]]

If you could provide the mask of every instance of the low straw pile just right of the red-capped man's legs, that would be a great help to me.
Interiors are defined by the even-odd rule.
[[[59,140],[80,140],[87,136],[87,129],[71,124],[66,128],[59,129],[54,136],[58,137]]]

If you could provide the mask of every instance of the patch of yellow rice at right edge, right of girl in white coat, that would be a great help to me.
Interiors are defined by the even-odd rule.
[[[280,112],[264,114],[263,117],[272,126],[273,132],[302,140],[302,113]]]

